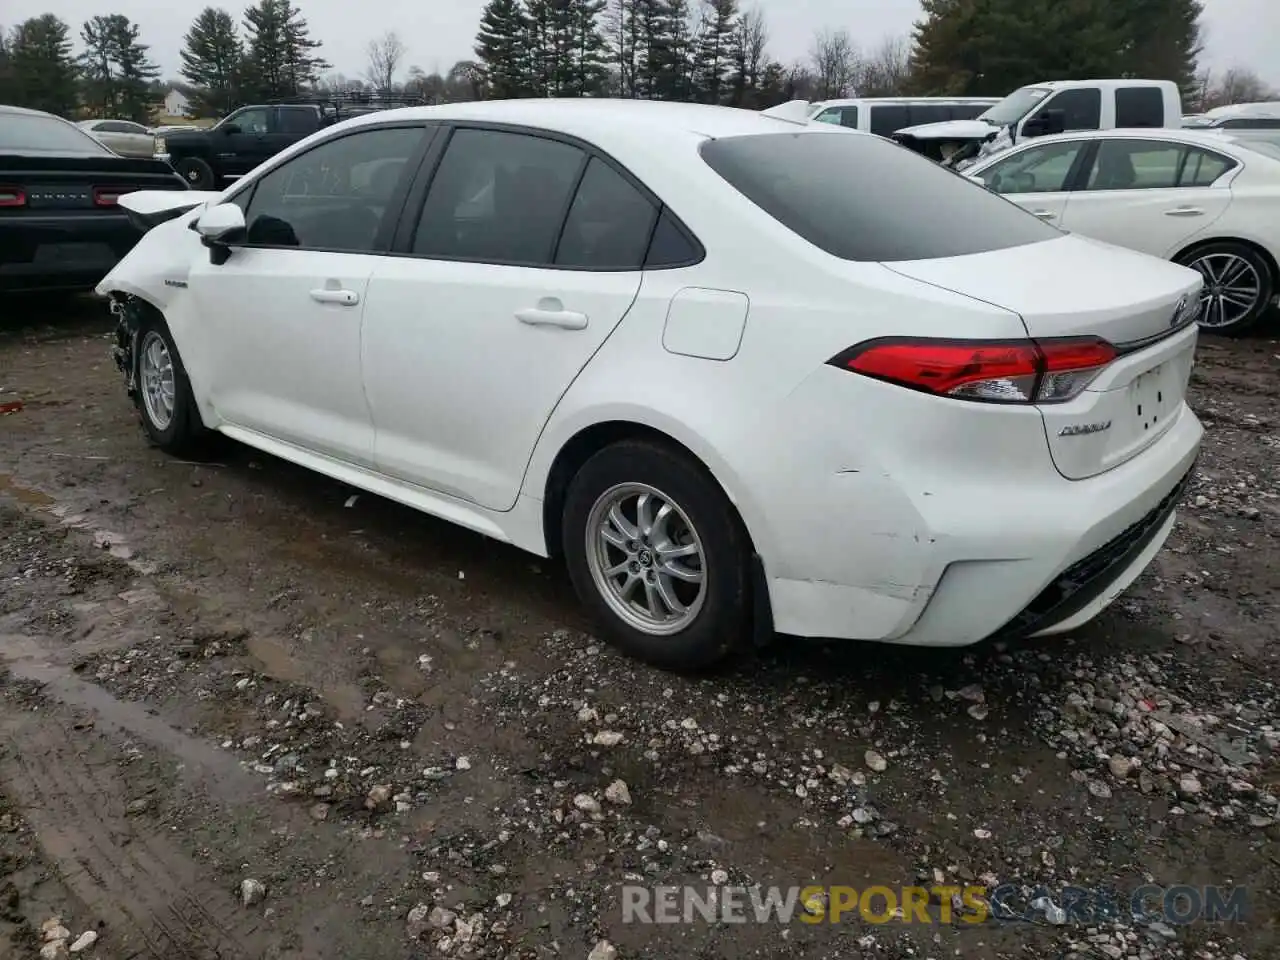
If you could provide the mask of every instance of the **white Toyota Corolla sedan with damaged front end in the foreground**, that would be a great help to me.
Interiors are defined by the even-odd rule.
[[[99,292],[154,443],[219,431],[563,556],[667,667],[1075,628],[1201,444],[1198,274],[840,127],[411,108],[122,205],[152,229]]]

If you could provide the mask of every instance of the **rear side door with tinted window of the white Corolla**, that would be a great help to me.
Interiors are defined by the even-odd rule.
[[[635,301],[658,205],[548,134],[461,125],[442,148],[397,234],[404,255],[370,284],[375,456],[389,476],[509,509],[556,404]]]

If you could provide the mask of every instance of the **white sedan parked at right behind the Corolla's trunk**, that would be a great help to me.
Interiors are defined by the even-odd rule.
[[[1280,148],[1190,129],[1041,137],[966,177],[1064,230],[1204,276],[1201,325],[1244,333],[1280,289]]]

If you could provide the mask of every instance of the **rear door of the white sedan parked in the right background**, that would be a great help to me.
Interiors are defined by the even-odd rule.
[[[1233,166],[1222,154],[1176,141],[1098,138],[1062,225],[1170,257],[1226,211],[1231,191],[1213,183]]]

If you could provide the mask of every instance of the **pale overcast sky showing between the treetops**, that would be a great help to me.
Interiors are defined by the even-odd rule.
[[[207,0],[4,0],[0,17],[6,26],[55,13],[79,24],[99,13],[123,13],[142,31],[166,79],[178,76],[178,51],[192,18]],[[369,40],[394,29],[408,47],[404,67],[442,73],[460,59],[471,58],[484,0],[296,0],[311,26],[311,36],[324,42],[321,52],[334,69],[348,76],[365,72]],[[822,27],[845,28],[863,46],[883,36],[906,33],[919,15],[919,0],[758,0],[769,24],[773,56],[790,63],[806,55],[813,33]],[[236,12],[237,3],[218,4]],[[1204,0],[1206,61],[1215,69],[1251,67],[1280,87],[1280,1]],[[1044,79],[1053,79],[1044,77]]]

